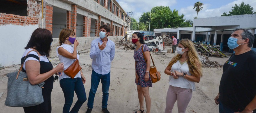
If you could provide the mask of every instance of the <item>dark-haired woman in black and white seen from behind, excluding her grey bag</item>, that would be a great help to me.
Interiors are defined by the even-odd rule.
[[[51,91],[54,82],[53,74],[62,72],[64,67],[63,63],[61,63],[58,64],[56,68],[53,68],[47,58],[49,57],[52,41],[52,34],[49,30],[37,28],[32,33],[27,46],[24,47],[26,51],[21,59],[21,63],[24,62],[22,72],[27,73],[29,83],[32,85],[45,82],[43,85],[44,88],[42,89],[44,102],[36,106],[23,107],[25,113],[51,113]],[[29,51],[31,52],[28,53]],[[25,58],[27,53],[28,55]]]

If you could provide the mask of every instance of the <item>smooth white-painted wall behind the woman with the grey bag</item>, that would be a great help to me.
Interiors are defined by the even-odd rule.
[[[1,25],[0,26],[0,64],[10,66],[20,64],[20,59],[25,51],[31,34],[38,25]]]

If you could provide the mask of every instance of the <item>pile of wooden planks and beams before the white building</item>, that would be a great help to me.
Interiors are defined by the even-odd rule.
[[[193,42],[196,50],[200,53],[205,54],[206,56],[211,57],[227,57],[225,54],[223,54],[221,51],[219,51],[219,45],[207,45],[202,44],[200,42]]]

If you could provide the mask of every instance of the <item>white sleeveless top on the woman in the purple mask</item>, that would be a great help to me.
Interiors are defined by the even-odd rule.
[[[59,47],[63,47],[64,49],[66,49],[68,52],[73,53],[74,48],[72,47],[72,45],[68,45],[68,44],[62,44]],[[59,60],[61,63],[64,63],[64,70],[66,70],[71,64],[73,64],[75,62],[76,59],[70,59],[70,58],[66,58],[62,55],[60,55],[58,53],[58,48],[56,48],[56,52],[57,52],[57,56],[59,57]],[[77,59],[79,60],[79,55],[77,54]],[[60,76],[60,80],[63,78],[70,78],[69,76],[67,76],[66,74],[64,74],[64,72],[62,72],[62,76]],[[74,78],[81,78],[81,73],[78,72],[77,75]]]

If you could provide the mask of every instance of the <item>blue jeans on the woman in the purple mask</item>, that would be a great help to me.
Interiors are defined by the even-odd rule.
[[[77,113],[83,103],[86,101],[85,87],[81,78],[63,78],[60,80],[60,87],[64,93],[65,104],[63,107],[63,113]],[[77,94],[77,102],[69,112],[73,103],[74,92]]]

